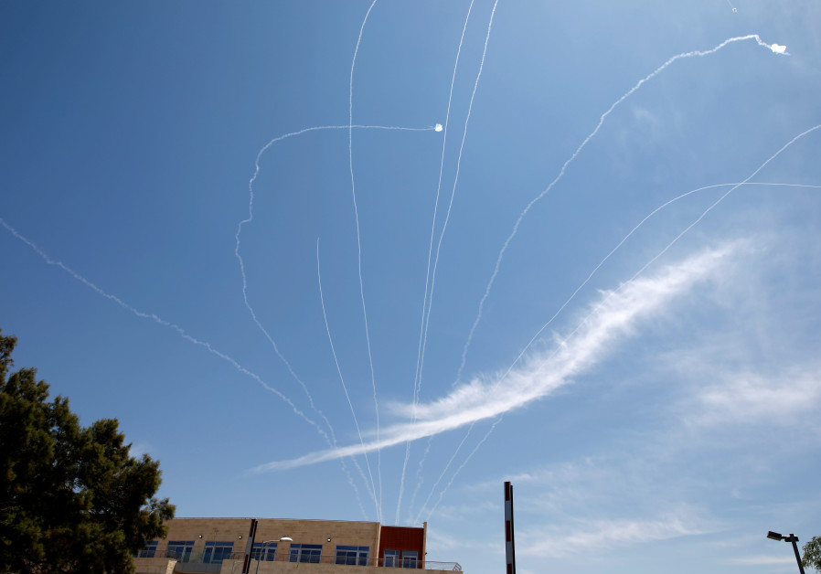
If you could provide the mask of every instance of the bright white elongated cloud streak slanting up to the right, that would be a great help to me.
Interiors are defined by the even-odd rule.
[[[631,335],[635,324],[691,290],[720,269],[720,262],[741,249],[742,242],[708,249],[639,277],[617,290],[602,292],[590,314],[566,338],[549,348],[531,352],[506,371],[475,377],[470,383],[429,403],[396,406],[409,419],[383,427],[379,440],[306,454],[289,461],[261,464],[252,472],[285,470],[373,452],[405,441],[416,441],[479,420],[497,417],[542,399],[600,362],[619,340]],[[410,421],[414,418],[415,421]]]

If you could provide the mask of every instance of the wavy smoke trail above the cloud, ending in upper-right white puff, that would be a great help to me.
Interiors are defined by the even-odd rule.
[[[750,35],[747,35],[747,36],[740,36],[740,37],[731,37],[731,38],[726,39],[723,42],[721,42],[715,48],[711,48],[709,50],[694,50],[694,51],[690,51],[690,52],[684,52],[682,54],[678,54],[677,56],[673,56],[672,58],[669,58],[664,64],[662,64],[661,66],[656,68],[653,72],[651,72],[650,74],[645,76],[645,78],[643,78],[641,80],[638,80],[638,82],[636,82],[636,84],[633,86],[633,88],[631,88],[630,90],[627,90],[627,92],[625,92],[624,95],[621,98],[619,98],[618,100],[613,102],[613,105],[610,106],[610,108],[607,110],[607,112],[602,113],[602,116],[599,118],[599,123],[596,124],[595,129],[593,129],[593,131],[586,138],[584,138],[584,141],[581,142],[581,144],[579,145],[578,148],[576,148],[576,151],[573,152],[573,154],[570,155],[570,158],[568,158],[568,160],[565,161],[564,165],[561,166],[559,175],[557,175],[556,178],[553,179],[552,182],[550,182],[550,185],[547,186],[540,194],[538,194],[537,197],[534,197],[530,201],[530,203],[528,203],[527,207],[525,207],[522,210],[522,212],[519,214],[519,216],[516,220],[516,223],[513,225],[513,230],[510,232],[510,235],[505,240],[505,243],[502,246],[502,249],[499,251],[499,256],[496,259],[496,266],[494,267],[494,271],[490,276],[490,281],[487,282],[487,286],[485,287],[485,294],[482,296],[482,299],[479,302],[478,314],[476,314],[476,318],[474,319],[474,324],[471,326],[470,332],[467,335],[467,341],[465,342],[464,348],[462,350],[462,363],[459,366],[459,370],[458,370],[458,373],[456,375],[456,380],[459,380],[462,377],[462,372],[464,371],[464,364],[467,361],[467,351],[470,348],[471,342],[473,341],[474,333],[476,331],[476,327],[478,326],[479,322],[482,320],[482,313],[485,309],[485,302],[487,301],[487,297],[490,295],[490,291],[493,288],[494,282],[496,282],[496,275],[499,272],[499,267],[502,264],[502,259],[505,257],[505,252],[507,250],[507,247],[510,245],[510,241],[512,241],[513,238],[516,237],[516,234],[518,232],[518,228],[519,228],[519,225],[522,222],[522,219],[524,219],[525,216],[528,215],[528,211],[530,211],[530,208],[533,207],[536,204],[536,202],[538,202],[539,199],[541,199],[542,197],[545,197],[549,193],[549,191],[553,188],[553,186],[555,186],[557,183],[559,183],[560,179],[564,176],[564,173],[567,170],[568,165],[570,165],[570,163],[573,160],[576,159],[576,156],[581,153],[581,150],[584,149],[584,146],[586,146],[588,142],[590,142],[592,137],[594,135],[596,135],[596,133],[599,133],[599,130],[602,128],[602,124],[604,123],[604,120],[607,119],[607,116],[609,116],[619,104],[621,104],[624,100],[626,100],[631,95],[633,95],[635,90],[638,90],[647,81],[652,80],[653,78],[655,78],[658,74],[660,74],[662,71],[664,71],[673,62],[675,62],[679,59],[683,59],[683,58],[695,58],[695,57],[700,58],[700,57],[704,57],[704,56],[709,56],[710,54],[715,54],[721,48],[724,48],[725,46],[727,46],[727,45],[729,45],[733,42],[741,42],[743,40],[750,40],[750,39],[754,39],[759,46],[762,46],[763,48],[769,48],[769,49],[773,50],[773,52],[775,52],[775,53],[779,53],[779,54],[784,54],[785,53],[784,51],[779,51],[779,49],[773,49],[773,46],[778,47],[778,48],[781,48],[781,47],[779,47],[777,44],[773,44],[773,45],[767,44],[766,42],[762,41],[761,37],[759,37],[758,34],[750,34]]]

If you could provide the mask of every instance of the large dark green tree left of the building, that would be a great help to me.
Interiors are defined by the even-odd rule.
[[[133,572],[174,516],[159,462],[131,457],[117,420],[80,426],[35,369],[9,375],[15,344],[0,335],[0,572]]]

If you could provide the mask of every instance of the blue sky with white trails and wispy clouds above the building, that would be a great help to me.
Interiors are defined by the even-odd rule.
[[[821,5],[0,16],[0,328],[178,516],[427,520],[474,574],[506,480],[522,572],[821,534]]]

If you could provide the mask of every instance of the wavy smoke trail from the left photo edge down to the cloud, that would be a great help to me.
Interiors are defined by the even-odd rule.
[[[113,301],[114,303],[117,303],[123,309],[125,309],[126,311],[130,311],[131,313],[133,313],[137,317],[140,317],[141,319],[150,319],[150,320],[154,321],[156,324],[160,324],[164,327],[168,327],[170,329],[175,330],[178,335],[180,335],[182,338],[184,338],[188,342],[193,343],[194,345],[200,345],[200,346],[205,347],[206,349],[208,349],[208,352],[211,353],[212,355],[219,356],[219,358],[221,358],[224,361],[227,361],[231,366],[233,366],[238,371],[240,371],[240,373],[242,373],[244,375],[248,375],[249,377],[253,378],[255,381],[257,381],[262,386],[262,388],[265,388],[266,390],[271,391],[274,395],[276,395],[280,399],[283,399],[283,401],[288,406],[290,406],[291,409],[293,409],[294,414],[298,415],[299,417],[304,419],[306,422],[311,424],[316,429],[316,431],[322,437],[325,438],[325,441],[327,441],[328,445],[332,446],[333,443],[331,442],[331,440],[328,437],[327,433],[325,432],[325,430],[322,427],[319,426],[319,424],[316,423],[315,420],[309,419],[307,417],[307,415],[305,415],[305,413],[302,410],[297,409],[296,405],[293,404],[293,401],[291,399],[288,399],[288,397],[286,397],[283,394],[283,392],[281,392],[280,390],[278,390],[276,388],[273,388],[270,385],[268,385],[268,383],[266,383],[264,380],[262,380],[262,378],[259,375],[257,375],[256,373],[251,372],[250,370],[248,370],[245,367],[242,367],[240,365],[240,363],[238,363],[231,356],[228,356],[225,353],[222,353],[222,352],[218,351],[217,349],[215,349],[213,346],[211,346],[210,344],[208,344],[205,341],[200,341],[199,339],[197,339],[197,338],[195,338],[191,335],[188,335],[186,333],[186,331],[182,327],[180,327],[179,325],[171,323],[169,321],[165,321],[165,319],[157,316],[156,314],[148,314],[148,313],[144,313],[142,311],[139,311],[138,309],[136,309],[132,305],[130,305],[128,303],[125,303],[122,299],[120,299],[116,295],[112,295],[109,292],[103,291],[100,287],[98,287],[94,283],[90,282],[88,279],[86,279],[85,277],[80,275],[80,273],[78,273],[77,271],[72,270],[68,265],[64,264],[62,261],[51,259],[48,256],[48,253],[46,253],[45,250],[42,250],[40,247],[37,246],[36,243],[34,243],[30,239],[27,239],[26,237],[21,235],[16,229],[14,229],[8,223],[6,223],[4,218],[0,218],[0,225],[2,225],[5,229],[8,229],[8,231],[11,232],[11,234],[14,235],[17,239],[20,239],[21,241],[26,243],[28,247],[30,247],[32,250],[34,250],[37,253],[37,255],[39,255],[41,258],[43,258],[43,260],[45,260],[49,265],[55,265],[55,266],[59,267],[61,270],[66,271],[67,273],[69,273],[69,275],[71,275],[71,277],[73,277],[77,281],[83,283],[86,287],[89,287],[93,292],[96,292],[98,295],[101,295],[102,297],[105,297],[106,299],[109,299],[109,300]]]

